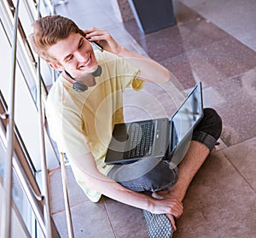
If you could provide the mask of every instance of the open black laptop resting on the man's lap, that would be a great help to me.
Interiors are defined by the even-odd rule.
[[[145,158],[171,160],[203,117],[201,82],[171,119],[148,119],[116,124],[105,158],[107,165],[129,164]]]

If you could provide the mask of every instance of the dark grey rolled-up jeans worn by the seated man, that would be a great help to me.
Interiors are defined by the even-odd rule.
[[[204,117],[195,127],[190,140],[201,142],[212,151],[222,131],[222,119],[212,108],[204,109]],[[188,142],[189,144],[189,142]],[[183,148],[179,148],[177,154],[183,153]],[[186,151],[184,152],[184,154]],[[183,154],[183,155],[184,155]],[[183,157],[182,155],[182,157]],[[180,157],[180,156],[179,156]],[[178,161],[178,163],[180,160]],[[138,160],[128,165],[114,165],[109,171],[108,177],[120,183],[127,189],[137,192],[156,192],[168,189],[177,183],[177,164],[172,160],[162,160],[152,158]]]

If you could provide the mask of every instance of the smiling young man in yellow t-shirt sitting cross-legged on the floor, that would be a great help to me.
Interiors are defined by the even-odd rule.
[[[117,182],[113,174],[150,164],[147,160],[130,165],[104,163],[113,125],[124,121],[123,90],[140,90],[144,81],[166,87],[172,81],[171,73],[125,49],[105,30],[81,31],[72,20],[60,15],[41,18],[33,26],[33,49],[50,67],[61,71],[49,91],[46,114],[50,134],[59,151],[67,154],[77,183],[94,202],[104,194],[143,209],[148,235],[171,237],[172,229],[176,229],[174,218],[183,213],[182,200],[189,183],[220,136],[218,114],[205,109],[179,165],[178,179],[177,168],[160,160],[142,177]],[[94,51],[92,41],[104,51]],[[176,92],[176,96],[180,95]],[[152,195],[140,193],[143,191]]]

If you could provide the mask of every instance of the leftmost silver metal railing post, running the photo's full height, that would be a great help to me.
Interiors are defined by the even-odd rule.
[[[20,0],[17,0],[15,8],[15,24],[12,41],[12,68],[10,80],[10,94],[9,94],[9,112],[8,112],[8,127],[7,127],[7,160],[5,161],[3,188],[5,193],[5,206],[3,208],[2,230],[1,234],[4,237],[10,237],[10,221],[11,221],[11,193],[12,193],[12,160],[14,153],[14,121],[15,121],[15,76],[16,76],[16,51],[17,51],[17,29],[18,29],[18,13]]]

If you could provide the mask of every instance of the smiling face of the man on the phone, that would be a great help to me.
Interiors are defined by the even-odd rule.
[[[49,47],[48,51],[60,62],[51,65],[61,71],[65,69],[73,78],[96,71],[97,62],[90,42],[79,33],[71,33],[68,38]]]

